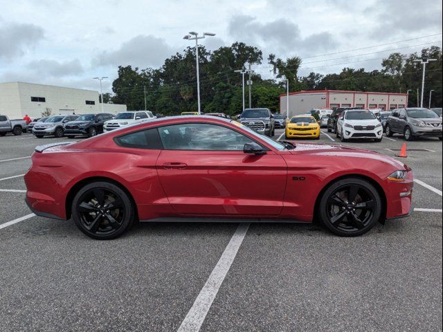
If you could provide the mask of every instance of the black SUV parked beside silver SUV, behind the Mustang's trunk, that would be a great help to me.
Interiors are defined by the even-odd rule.
[[[114,116],[109,113],[83,114],[75,121],[64,124],[64,136],[74,138],[77,135],[96,136],[103,132],[103,123]]]

